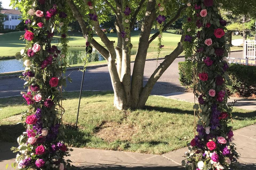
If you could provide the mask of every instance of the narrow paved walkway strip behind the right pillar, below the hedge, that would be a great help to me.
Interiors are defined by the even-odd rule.
[[[161,95],[164,97],[167,97],[169,99],[178,99],[178,100],[185,100],[194,102],[194,94],[188,93],[188,92],[174,92],[169,94]],[[236,100],[235,107],[241,108],[241,109],[247,109],[247,110],[256,110],[256,100],[255,99],[246,99],[246,98],[239,98],[239,97],[230,97],[228,99],[229,103],[232,103],[232,101]],[[197,103],[197,99],[196,99]]]

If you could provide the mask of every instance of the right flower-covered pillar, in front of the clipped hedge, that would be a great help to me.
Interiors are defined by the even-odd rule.
[[[227,104],[228,64],[223,60],[228,55],[229,44],[225,36],[226,21],[219,13],[222,4],[190,0],[188,6],[194,10],[191,15],[197,26],[195,57],[189,60],[193,60],[198,78],[194,92],[199,105],[194,108],[199,109],[199,120],[197,135],[190,142],[192,148],[189,147],[182,163],[190,170],[235,169],[238,154],[231,143],[233,132],[229,126],[232,105]],[[185,50],[191,51],[191,46],[187,47]]]

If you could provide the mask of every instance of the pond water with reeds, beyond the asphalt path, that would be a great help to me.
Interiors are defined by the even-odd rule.
[[[170,49],[162,49],[162,51],[170,51]],[[136,54],[137,48],[132,48],[131,55]],[[148,52],[157,52],[157,48],[149,48]],[[99,61],[105,60],[99,54]],[[73,60],[73,64],[77,64],[77,60]],[[23,66],[22,60],[16,59],[7,59],[7,60],[0,60],[0,73],[7,73],[12,71],[22,71],[25,67]]]

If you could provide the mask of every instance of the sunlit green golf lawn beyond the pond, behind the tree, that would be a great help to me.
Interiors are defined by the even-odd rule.
[[[153,35],[156,30],[152,30],[151,35]],[[25,41],[19,40],[20,36],[23,35],[25,31],[10,32],[3,35],[0,35],[0,58],[6,56],[14,56],[15,53],[19,52],[22,48],[25,47]],[[85,49],[85,39],[82,36],[82,33],[79,32],[69,32],[69,50],[70,51],[79,51]],[[117,34],[108,33],[107,36],[111,41],[115,41],[117,44]],[[131,33],[131,43],[133,48],[131,54],[135,55],[138,48],[140,31],[133,31]],[[233,36],[235,37],[235,36]],[[104,44],[101,42],[100,38],[95,34],[94,39],[99,42],[101,45]],[[161,56],[170,54],[177,46],[177,43],[180,41],[181,35],[174,34],[171,32],[163,32],[163,41],[162,44],[165,45],[162,49]],[[54,36],[53,45],[59,42],[59,36]],[[149,46],[148,52],[152,53],[153,58],[157,57],[157,48],[158,48],[158,39],[155,39]],[[240,48],[239,48],[240,49]],[[242,48],[241,48],[242,49]],[[233,50],[233,48],[231,48]]]

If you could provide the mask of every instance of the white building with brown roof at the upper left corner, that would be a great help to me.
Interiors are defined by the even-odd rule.
[[[21,18],[21,12],[16,8],[13,9],[3,9],[1,10],[1,14],[5,14],[3,28],[4,29],[15,29],[16,26],[21,22],[19,18]]]

